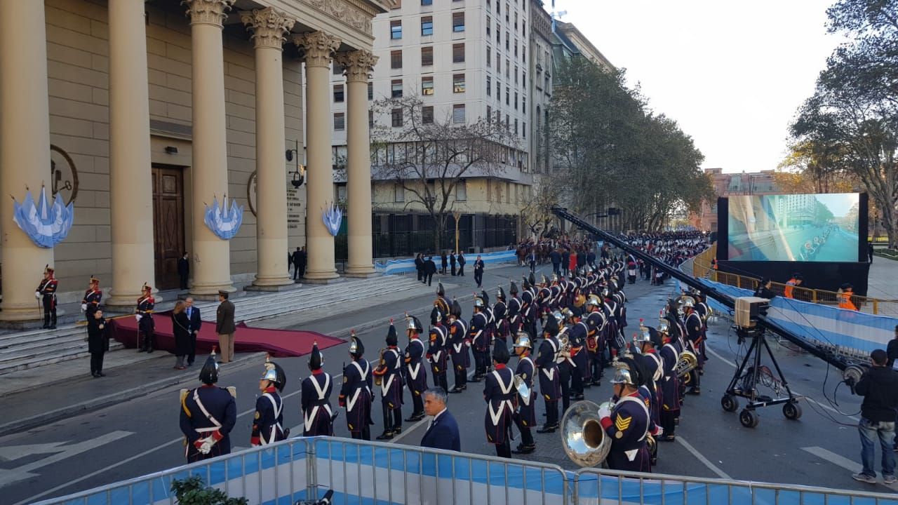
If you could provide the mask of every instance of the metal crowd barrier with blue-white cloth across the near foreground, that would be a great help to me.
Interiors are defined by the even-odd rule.
[[[296,438],[112,483],[39,505],[175,504],[199,475],[251,504],[293,505],[333,490],[341,504],[898,505],[898,495],[585,468],[354,439]]]

